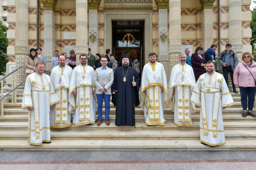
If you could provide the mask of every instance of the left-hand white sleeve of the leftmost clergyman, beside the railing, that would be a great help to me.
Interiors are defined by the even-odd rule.
[[[31,83],[30,77],[28,76],[25,83],[23,100],[22,100],[22,108],[27,109],[27,107],[33,107],[32,96],[31,96]]]

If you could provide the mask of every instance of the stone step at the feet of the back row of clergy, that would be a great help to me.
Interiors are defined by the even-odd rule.
[[[248,122],[224,122],[225,130],[251,130],[256,127],[256,121],[251,120]],[[136,121],[136,129],[137,130],[195,130],[199,129],[199,122],[193,122],[193,127],[178,127],[173,121],[166,121],[164,126],[146,126],[143,120]],[[28,122],[0,122],[1,130],[27,130]],[[106,126],[103,122],[101,126],[97,126],[96,124],[84,125],[84,126],[72,126],[70,129],[74,130],[99,130],[99,129],[109,129],[109,130],[133,130],[134,127],[131,126],[115,126],[115,120],[110,120],[110,126]]]

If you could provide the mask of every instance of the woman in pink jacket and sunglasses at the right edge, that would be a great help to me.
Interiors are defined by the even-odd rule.
[[[256,115],[252,112],[256,92],[256,63],[252,61],[252,59],[253,56],[251,53],[243,53],[243,62],[237,65],[233,75],[234,84],[236,85],[237,88],[240,88],[241,103],[244,110],[242,113],[243,117],[246,117],[247,115],[256,117]]]

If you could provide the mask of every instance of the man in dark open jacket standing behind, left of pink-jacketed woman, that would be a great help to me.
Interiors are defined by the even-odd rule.
[[[233,87],[233,92],[238,93],[236,86],[234,85],[233,82],[233,74],[234,74],[234,69],[238,65],[238,56],[236,52],[231,50],[232,45],[230,43],[226,44],[226,50],[221,52],[220,58],[219,58],[219,63],[220,63],[220,70],[223,69],[223,76],[224,79],[228,85],[228,72],[231,77],[232,81],[232,87]]]

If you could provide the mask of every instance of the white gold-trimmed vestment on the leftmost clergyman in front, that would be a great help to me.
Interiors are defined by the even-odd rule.
[[[29,143],[40,145],[50,142],[50,105],[59,102],[58,96],[46,74],[34,72],[26,79],[22,108],[33,107],[29,112]]]

